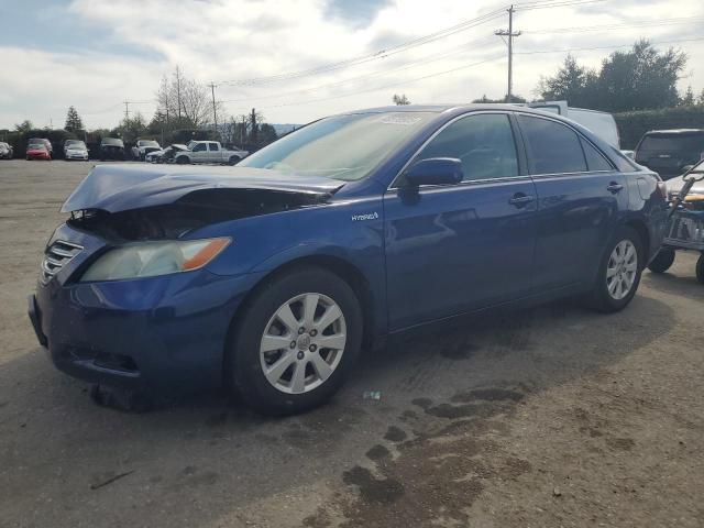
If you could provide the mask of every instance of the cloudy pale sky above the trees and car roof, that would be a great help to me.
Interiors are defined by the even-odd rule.
[[[123,101],[150,119],[160,80],[176,65],[204,85],[215,82],[227,114],[256,108],[273,123],[385,106],[394,94],[414,103],[498,98],[506,94],[507,48],[494,32],[507,28],[506,7],[507,0],[0,0],[0,129],[25,119],[61,128],[72,105],[88,129],[116,127]],[[535,98],[540,77],[554,74],[568,51],[596,67],[640,37],[686,52],[680,89],[704,89],[701,0],[526,0],[516,8],[514,94]]]

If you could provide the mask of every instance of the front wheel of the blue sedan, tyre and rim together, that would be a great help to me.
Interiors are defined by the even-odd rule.
[[[361,342],[352,288],[326,270],[301,268],[266,283],[248,304],[229,343],[228,374],[258,413],[302,413],[342,386]]]

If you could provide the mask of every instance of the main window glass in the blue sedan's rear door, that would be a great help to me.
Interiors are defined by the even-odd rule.
[[[531,174],[586,172],[580,138],[564,124],[531,116],[518,116],[528,147]]]

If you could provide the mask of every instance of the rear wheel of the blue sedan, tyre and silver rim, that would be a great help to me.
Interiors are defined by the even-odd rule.
[[[612,238],[587,300],[605,314],[623,310],[636,295],[642,273],[642,242],[636,230],[620,227]]]

